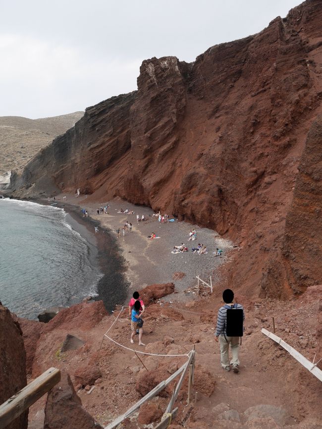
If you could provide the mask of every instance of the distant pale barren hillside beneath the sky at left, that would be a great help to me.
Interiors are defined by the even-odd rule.
[[[35,120],[18,116],[0,117],[0,175],[8,170],[22,170],[40,149],[72,127],[83,115],[84,112],[74,112]]]

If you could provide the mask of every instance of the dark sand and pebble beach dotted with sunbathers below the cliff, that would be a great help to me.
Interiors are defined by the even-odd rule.
[[[196,275],[205,281],[212,282],[215,288],[220,283],[217,268],[227,261],[233,248],[233,243],[220,238],[213,230],[199,228],[185,222],[160,223],[153,215],[149,207],[130,204],[122,200],[108,201],[107,214],[97,214],[97,209],[105,205],[107,201],[92,202],[82,195],[76,198],[74,195],[63,195],[56,197],[59,207],[77,221],[79,225],[86,228],[88,240],[95,241],[98,247],[98,258],[104,277],[98,285],[98,299],[103,299],[107,309],[110,311],[115,304],[123,304],[132,294],[133,290],[141,289],[155,283],[167,283],[174,281],[176,301],[191,299],[193,292],[186,293],[187,289],[196,285]],[[81,209],[89,212],[89,217],[84,218]],[[118,213],[120,209],[134,211],[127,215]],[[136,215],[145,216],[144,222],[137,222]],[[122,235],[122,227],[126,221],[132,223],[132,232]],[[76,222],[75,222],[76,223]],[[76,225],[72,225],[77,230]],[[99,233],[95,234],[95,226],[99,227]],[[120,228],[120,238],[117,238],[116,230]],[[193,228],[197,231],[197,240],[188,241],[189,231]],[[81,233],[81,232],[80,232]],[[152,233],[157,239],[149,240]],[[82,233],[81,233],[82,234]],[[83,232],[84,234],[84,232]],[[174,245],[184,243],[188,252],[171,253]],[[193,253],[191,248],[198,243],[207,246],[208,253],[199,255]],[[220,257],[215,257],[213,252],[216,247],[223,250]],[[185,273],[181,280],[173,280],[176,272]],[[179,293],[179,295],[178,295]],[[167,301],[173,300],[169,295]]]

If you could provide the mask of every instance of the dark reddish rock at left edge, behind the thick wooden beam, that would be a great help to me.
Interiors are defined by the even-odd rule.
[[[26,352],[22,332],[10,311],[0,304],[0,404],[27,385]],[[26,429],[28,411],[10,423],[8,429]]]

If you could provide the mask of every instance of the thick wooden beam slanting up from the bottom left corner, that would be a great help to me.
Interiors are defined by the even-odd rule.
[[[11,396],[0,405],[0,429],[5,428],[14,419],[38,401],[60,381],[60,370],[49,368],[30,384]]]

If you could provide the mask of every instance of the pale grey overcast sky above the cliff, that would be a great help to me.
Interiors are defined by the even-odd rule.
[[[0,0],[0,116],[85,110],[137,88],[143,60],[194,61],[300,0]]]

